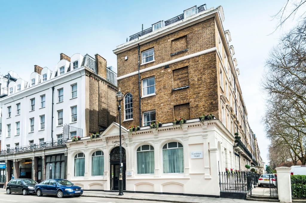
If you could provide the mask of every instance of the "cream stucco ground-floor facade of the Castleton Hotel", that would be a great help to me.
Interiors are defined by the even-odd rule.
[[[122,146],[126,153],[127,191],[157,193],[199,194],[219,196],[218,172],[226,166],[235,166],[233,144],[234,137],[219,120],[187,120],[182,128],[171,123],[163,124],[156,131],[141,127],[140,131],[129,134],[121,128]],[[85,190],[111,190],[110,153],[118,146],[119,125],[113,123],[96,139],[82,138],[80,141],[67,142],[67,179]],[[162,148],[166,143],[179,142],[183,146],[184,172],[163,173]],[[137,173],[136,149],[142,145],[154,147],[154,173]],[[91,156],[95,151],[104,153],[104,173],[91,175]],[[203,158],[191,158],[191,153],[202,152]],[[74,157],[78,153],[85,155],[84,176],[74,176]],[[226,158],[225,158],[226,157]],[[125,161],[123,161],[125,162]],[[195,190],[196,188],[196,190]]]

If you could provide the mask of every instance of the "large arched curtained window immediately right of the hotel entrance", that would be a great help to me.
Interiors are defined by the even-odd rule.
[[[137,149],[137,173],[154,173],[154,148],[143,145]]]

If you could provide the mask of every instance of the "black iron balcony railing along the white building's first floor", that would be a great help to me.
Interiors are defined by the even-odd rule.
[[[52,141],[51,142],[41,142],[38,144],[30,144],[26,146],[17,146],[17,147],[11,147],[7,149],[3,149],[0,151],[0,154],[9,154],[9,153],[21,153],[26,151],[33,151],[35,149],[44,149],[44,148],[50,148],[55,146],[65,146],[65,143],[67,140],[58,140],[58,141]]]

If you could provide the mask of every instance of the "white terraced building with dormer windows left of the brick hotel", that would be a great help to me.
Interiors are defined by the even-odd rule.
[[[91,97],[110,93],[95,83],[112,89],[115,100],[116,73],[106,68],[106,60],[98,54],[95,58],[61,54],[54,69],[35,65],[34,70],[29,82],[21,78],[9,82],[7,96],[0,99],[0,162],[6,162],[6,181],[12,177],[66,178],[66,140],[99,131],[90,126],[96,122],[91,110],[103,105],[91,105]],[[95,92],[89,96],[91,89]],[[109,115],[107,105],[104,112]],[[115,115],[109,119],[103,124],[99,118],[100,128],[106,128]]]

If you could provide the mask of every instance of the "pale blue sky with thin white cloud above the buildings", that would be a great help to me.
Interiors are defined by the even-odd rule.
[[[261,117],[264,98],[259,90],[264,62],[282,34],[270,34],[271,16],[285,0],[274,1],[34,1],[0,0],[0,72],[13,70],[28,80],[34,65],[54,68],[61,52],[99,53],[117,67],[112,50],[126,38],[159,20],[204,3],[223,6],[224,28],[229,29],[240,69],[240,84],[248,119],[259,140],[264,161],[269,142]],[[290,24],[288,25],[290,27]],[[286,28],[285,28],[286,29]]]

